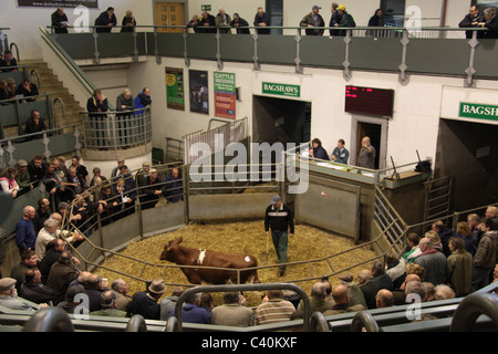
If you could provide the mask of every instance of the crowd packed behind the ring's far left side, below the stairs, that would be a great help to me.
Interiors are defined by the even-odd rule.
[[[70,216],[72,220],[77,220],[76,226],[94,218],[96,214],[101,215],[104,225],[123,218],[135,212],[137,199],[142,209],[149,209],[157,205],[160,196],[168,202],[177,202],[183,198],[183,179],[178,168],[173,168],[166,176],[165,171],[143,163],[142,168],[132,175],[125,160],[121,159],[108,177],[102,175],[100,167],[94,167],[91,176],[79,156],[73,156],[66,166],[64,156],[45,160],[43,156],[35,155],[30,162],[19,159],[15,166],[1,171],[1,192],[17,198],[42,186],[56,206],[54,211],[66,209],[75,200],[75,208]],[[40,199],[39,208],[45,208],[45,199]]]

